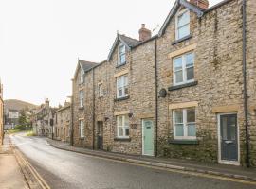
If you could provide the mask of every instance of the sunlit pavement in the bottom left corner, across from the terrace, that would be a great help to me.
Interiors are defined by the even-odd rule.
[[[27,181],[10,146],[9,137],[5,137],[0,146],[0,188],[28,189]]]

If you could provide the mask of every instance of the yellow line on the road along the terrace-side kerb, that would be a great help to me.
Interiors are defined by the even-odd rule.
[[[228,178],[228,177],[224,177],[224,176],[217,176],[217,175],[215,176],[215,175],[210,175],[210,174],[205,174],[205,173],[196,173],[196,172],[190,172],[190,171],[175,170],[175,169],[164,168],[164,167],[156,167],[156,166],[147,165],[147,164],[140,164],[140,163],[128,163],[128,162],[123,162],[123,161],[120,161],[120,160],[113,160],[113,159],[98,157],[98,156],[89,155],[89,154],[81,154],[81,155],[88,156],[88,157],[93,157],[93,158],[101,159],[101,160],[107,160],[107,161],[110,161],[110,162],[138,165],[138,166],[143,166],[143,167],[152,168],[152,169],[156,169],[156,170],[163,170],[163,171],[168,171],[168,172],[173,172],[173,173],[192,175],[192,176],[196,176],[196,177],[203,177],[203,178],[209,178],[209,179],[215,179],[215,180],[226,180],[226,181],[256,185],[255,181],[250,181],[250,180],[239,180],[239,179],[235,179],[235,178],[232,179],[232,178]]]

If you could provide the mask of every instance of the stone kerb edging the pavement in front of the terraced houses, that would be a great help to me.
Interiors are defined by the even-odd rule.
[[[91,155],[91,156],[97,156],[97,157],[107,158],[107,159],[112,159],[112,160],[118,160],[118,161],[127,162],[127,163],[137,163],[137,164],[150,165],[150,166],[155,166],[155,167],[160,167],[160,168],[188,171],[188,172],[193,172],[193,173],[209,174],[212,176],[226,177],[226,178],[232,178],[232,179],[238,179],[238,180],[256,181],[256,177],[237,175],[237,174],[231,174],[231,173],[225,173],[225,172],[219,172],[219,171],[210,171],[210,170],[206,170],[206,169],[180,166],[180,165],[175,165],[175,164],[171,164],[171,163],[155,163],[155,162],[150,162],[148,160],[137,160],[136,158],[133,159],[131,157],[125,158],[125,157],[119,156],[119,155],[115,156],[115,154],[112,154],[110,152],[99,152],[99,151],[91,150],[91,149],[82,150],[83,148],[80,148],[80,147],[58,145],[50,139],[46,139],[46,141],[51,146],[54,146],[56,148],[63,149],[66,151],[73,151],[73,152],[77,152],[77,153],[82,153],[82,154],[87,154],[87,155]]]

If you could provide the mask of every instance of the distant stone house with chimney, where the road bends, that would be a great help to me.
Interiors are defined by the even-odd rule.
[[[42,104],[38,110],[32,115],[32,127],[34,134],[38,136],[47,136],[52,138],[53,128],[53,109],[49,105],[49,100],[46,99],[45,104]]]

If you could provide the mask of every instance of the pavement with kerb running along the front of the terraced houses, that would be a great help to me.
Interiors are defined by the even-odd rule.
[[[151,165],[155,167],[164,167],[175,170],[182,170],[188,172],[204,173],[213,176],[220,176],[226,178],[235,178],[239,180],[252,180],[256,182],[256,169],[247,168],[235,165],[226,165],[218,163],[201,163],[188,160],[167,159],[159,157],[148,156],[133,156],[126,154],[119,154],[113,152],[106,152],[101,150],[91,150],[82,147],[70,146],[69,143],[61,141],[51,140],[46,138],[46,141],[54,147],[73,151],[82,154],[88,154],[92,156],[98,156],[102,158],[108,158],[113,160],[119,160],[128,163],[138,163]]]

